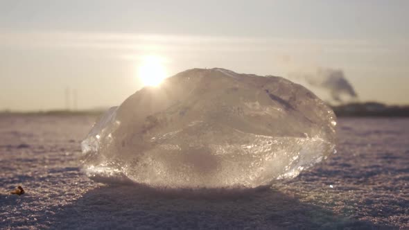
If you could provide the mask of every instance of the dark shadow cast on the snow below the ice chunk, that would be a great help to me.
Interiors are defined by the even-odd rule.
[[[393,229],[335,215],[275,188],[101,186],[51,218],[52,229]]]

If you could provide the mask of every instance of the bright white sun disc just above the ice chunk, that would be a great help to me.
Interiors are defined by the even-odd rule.
[[[159,56],[143,57],[138,67],[138,78],[143,82],[143,86],[157,87],[166,78],[164,59]]]

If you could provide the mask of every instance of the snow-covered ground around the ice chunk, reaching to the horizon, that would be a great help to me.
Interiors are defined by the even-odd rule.
[[[409,229],[409,119],[340,118],[338,154],[299,177],[195,192],[85,177],[94,120],[0,116],[0,229]]]

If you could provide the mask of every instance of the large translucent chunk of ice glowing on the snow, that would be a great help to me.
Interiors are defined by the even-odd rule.
[[[82,141],[93,179],[254,188],[335,151],[336,116],[284,78],[190,69],[112,107]]]

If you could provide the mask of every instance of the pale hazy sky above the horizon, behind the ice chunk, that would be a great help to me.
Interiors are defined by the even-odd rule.
[[[0,110],[118,105],[144,57],[288,76],[341,69],[360,100],[409,103],[409,1],[2,1]],[[72,94],[72,93],[71,93]]]

